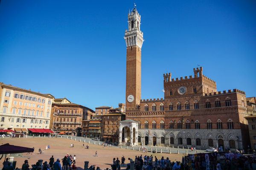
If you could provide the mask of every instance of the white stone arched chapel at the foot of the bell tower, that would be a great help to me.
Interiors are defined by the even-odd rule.
[[[138,145],[138,122],[131,119],[119,122],[119,145]]]

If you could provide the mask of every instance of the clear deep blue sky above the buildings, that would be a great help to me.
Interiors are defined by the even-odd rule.
[[[0,82],[92,109],[125,102],[123,37],[133,2],[1,0]],[[218,91],[256,96],[255,0],[136,3],[143,99],[163,97],[163,73],[189,76],[198,64]]]

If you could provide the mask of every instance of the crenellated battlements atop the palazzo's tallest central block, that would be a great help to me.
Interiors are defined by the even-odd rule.
[[[200,68],[194,68],[194,77],[191,76],[185,76],[185,77],[180,77],[180,78],[175,78],[175,79],[171,79],[172,77],[172,74],[171,73],[166,73],[166,74],[163,74],[163,81],[164,82],[177,82],[177,81],[181,81],[181,80],[187,80],[187,79],[195,79],[195,78],[198,78],[198,77],[203,77],[204,79],[207,79],[208,81],[216,84],[216,82],[212,79],[210,79],[209,77],[203,75],[203,68],[200,67]]]

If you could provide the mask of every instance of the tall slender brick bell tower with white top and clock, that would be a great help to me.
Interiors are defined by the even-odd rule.
[[[140,105],[141,98],[141,47],[143,32],[140,31],[140,14],[136,6],[128,14],[126,42],[126,111]]]

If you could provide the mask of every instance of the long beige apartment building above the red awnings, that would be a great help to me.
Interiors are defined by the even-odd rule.
[[[49,129],[54,96],[0,82],[0,129]]]

